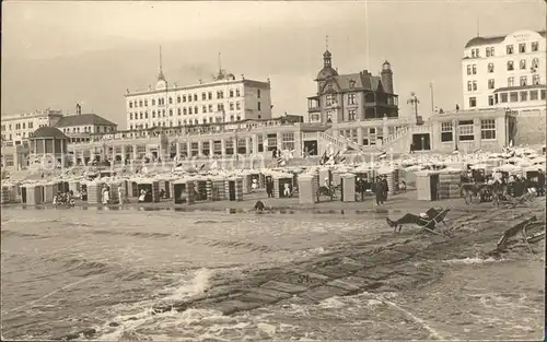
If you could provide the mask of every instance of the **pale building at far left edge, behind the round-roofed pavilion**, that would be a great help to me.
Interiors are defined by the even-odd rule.
[[[40,127],[55,126],[62,118],[61,110],[36,110],[28,114],[2,115],[2,143],[21,144]]]

